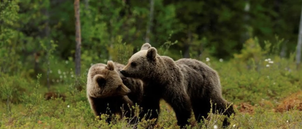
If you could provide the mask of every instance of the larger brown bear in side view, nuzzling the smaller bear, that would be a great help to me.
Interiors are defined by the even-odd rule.
[[[233,106],[226,109],[226,104],[230,103],[222,97],[218,73],[201,61],[185,58],[174,61],[170,57],[160,56],[156,48],[145,43],[120,72],[125,77],[142,79],[156,89],[153,96],[164,99],[172,106],[181,128],[188,124],[191,108],[198,122],[202,116],[207,118],[210,100],[217,104],[216,107],[213,105],[213,113],[226,110],[223,115],[228,117],[235,113]],[[224,119],[223,127],[229,124],[227,118]]]

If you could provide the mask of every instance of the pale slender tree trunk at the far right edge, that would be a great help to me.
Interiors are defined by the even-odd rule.
[[[301,47],[302,47],[302,9],[300,14],[300,25],[299,25],[299,35],[298,35],[297,54],[296,54],[297,69],[299,69],[299,64],[301,61]]]

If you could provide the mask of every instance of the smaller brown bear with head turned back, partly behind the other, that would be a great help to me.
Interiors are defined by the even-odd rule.
[[[143,82],[140,79],[124,77],[120,74],[123,67],[122,64],[108,61],[107,65],[97,63],[89,68],[87,98],[96,116],[119,114],[128,118],[133,117],[134,109],[130,110],[129,106],[141,102]],[[136,119],[131,120],[130,123],[133,124]],[[111,117],[107,118],[106,121],[110,123]]]

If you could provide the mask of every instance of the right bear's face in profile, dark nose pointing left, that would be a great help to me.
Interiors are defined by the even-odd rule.
[[[151,77],[156,72],[156,48],[145,43],[140,51],[133,54],[128,60],[128,64],[120,71],[125,77],[145,79]]]

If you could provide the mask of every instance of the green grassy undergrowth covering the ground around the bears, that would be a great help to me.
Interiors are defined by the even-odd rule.
[[[242,54],[229,61],[211,57],[206,61],[205,57],[199,58],[217,70],[223,97],[235,105],[236,115],[229,119],[231,125],[228,128],[302,128],[302,72],[296,70],[294,55],[284,59],[265,53],[259,54],[262,52],[260,49],[243,50]],[[63,63],[66,62],[56,63],[56,66]],[[44,83],[45,75],[44,78],[38,75],[36,80],[32,80],[25,78],[24,74],[1,74],[0,129],[132,128],[126,119],[119,119],[117,116],[110,125],[104,120],[97,120],[86,98],[87,73],[83,72],[82,76],[77,78],[79,84],[75,84],[75,76],[69,70],[73,65],[68,65],[65,68],[51,66],[50,73],[50,80],[53,80],[50,91],[64,95],[65,101],[62,98],[45,99],[44,95],[50,93]],[[82,90],[79,86],[82,86]],[[164,101],[161,101],[160,105],[161,114],[156,128],[178,128],[171,107]],[[221,128],[223,117],[210,114],[203,123],[196,123],[192,114],[187,128]],[[138,128],[143,128],[149,122],[138,123]]]

